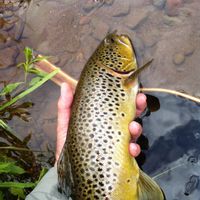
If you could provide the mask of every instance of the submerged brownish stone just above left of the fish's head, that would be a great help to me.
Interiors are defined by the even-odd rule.
[[[101,41],[108,34],[109,25],[104,21],[94,18],[92,19],[92,26],[92,36],[95,39]]]

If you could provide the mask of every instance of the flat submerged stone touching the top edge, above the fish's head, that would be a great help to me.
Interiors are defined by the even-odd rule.
[[[126,1],[123,3],[114,2],[112,5],[112,16],[113,17],[121,17],[129,14],[130,12],[130,4]]]

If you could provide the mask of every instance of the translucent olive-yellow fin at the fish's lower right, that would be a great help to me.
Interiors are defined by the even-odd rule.
[[[138,181],[139,200],[165,200],[164,193],[159,185],[140,170]]]

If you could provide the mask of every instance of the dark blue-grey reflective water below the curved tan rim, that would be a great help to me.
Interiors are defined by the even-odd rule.
[[[200,106],[171,95],[156,96],[161,108],[143,119],[144,136],[139,141],[143,152],[138,161],[159,183],[167,199],[197,200]]]

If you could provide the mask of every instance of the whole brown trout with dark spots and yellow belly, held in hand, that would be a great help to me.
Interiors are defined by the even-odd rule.
[[[148,63],[149,64],[149,63]],[[59,188],[73,200],[163,200],[160,187],[129,153],[139,72],[130,39],[109,34],[78,82],[67,139],[58,161]]]

